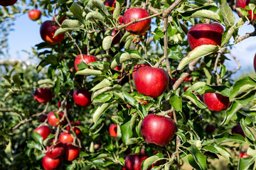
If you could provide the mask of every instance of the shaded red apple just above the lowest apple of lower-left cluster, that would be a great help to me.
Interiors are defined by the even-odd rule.
[[[46,155],[51,159],[57,159],[64,153],[64,144],[63,142],[57,142],[55,145],[50,145],[47,147]]]

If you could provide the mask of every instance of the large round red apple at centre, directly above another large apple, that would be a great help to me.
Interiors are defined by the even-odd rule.
[[[166,90],[169,76],[164,69],[142,67],[137,70],[134,82],[140,94],[157,98]]]

